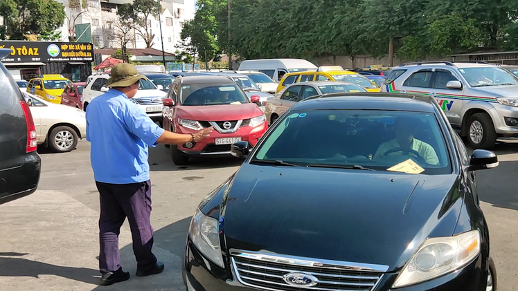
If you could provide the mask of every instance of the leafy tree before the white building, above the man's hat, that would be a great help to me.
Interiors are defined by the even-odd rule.
[[[158,19],[162,9],[154,0],[135,0],[125,3],[118,9],[118,15],[123,21],[132,24],[132,28],[144,39],[145,47],[151,48],[154,44],[154,33],[151,29],[150,18]]]

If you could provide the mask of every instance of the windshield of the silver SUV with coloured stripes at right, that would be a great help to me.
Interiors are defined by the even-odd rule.
[[[487,66],[459,68],[458,71],[472,87],[518,85],[518,78],[503,68]]]

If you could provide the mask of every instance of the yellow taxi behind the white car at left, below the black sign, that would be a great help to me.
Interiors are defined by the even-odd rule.
[[[43,75],[43,77],[30,79],[27,92],[39,95],[48,102],[61,104],[61,94],[66,85],[71,83],[62,75]]]

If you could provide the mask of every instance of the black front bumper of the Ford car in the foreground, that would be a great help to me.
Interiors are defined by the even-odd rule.
[[[373,291],[485,291],[487,272],[483,271],[483,259],[481,256],[470,265],[461,270],[441,276],[440,278],[411,285],[404,288],[391,289],[397,273],[386,273],[379,280]],[[187,291],[256,291],[240,283],[235,278],[235,271],[228,272],[222,267],[215,265],[201,254],[193,244],[188,241],[184,264],[182,265],[182,277],[186,284]],[[296,291],[297,288],[283,288],[279,291]],[[311,291],[312,288],[307,288]],[[276,290],[269,290],[276,291]]]

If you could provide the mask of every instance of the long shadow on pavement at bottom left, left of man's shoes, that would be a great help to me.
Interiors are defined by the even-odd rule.
[[[89,284],[97,284],[99,282],[99,279],[94,277],[99,275],[98,270],[85,267],[64,267],[19,257],[10,257],[24,255],[26,254],[0,253],[0,276],[30,276],[39,278],[39,275],[55,275]]]

